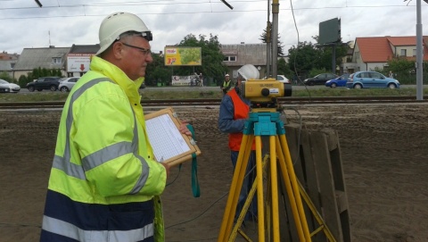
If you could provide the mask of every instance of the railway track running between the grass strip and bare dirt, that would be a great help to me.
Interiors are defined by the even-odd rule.
[[[328,96],[328,97],[280,97],[280,104],[391,104],[426,103],[416,96]],[[142,100],[143,106],[211,106],[219,105],[220,99]],[[0,102],[0,110],[6,109],[55,109],[62,108],[64,101],[46,102]]]

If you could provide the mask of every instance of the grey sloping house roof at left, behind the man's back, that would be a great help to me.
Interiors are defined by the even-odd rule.
[[[24,48],[13,68],[14,71],[27,71],[35,68],[57,69],[66,63],[70,47]],[[62,58],[62,63],[53,63],[53,58]]]

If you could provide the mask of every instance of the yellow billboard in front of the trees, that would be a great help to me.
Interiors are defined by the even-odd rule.
[[[167,46],[164,53],[165,65],[202,65],[201,47]]]

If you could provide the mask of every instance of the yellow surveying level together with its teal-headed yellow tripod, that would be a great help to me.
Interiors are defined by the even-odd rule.
[[[278,83],[280,84],[278,85]],[[266,238],[268,238],[269,241],[280,241],[278,174],[280,176],[279,181],[284,183],[289,197],[292,216],[299,239],[300,241],[311,241],[309,226],[303,210],[300,193],[307,204],[309,204],[312,213],[315,213],[316,209],[314,212],[313,204],[310,202],[308,196],[304,196],[306,192],[303,188],[300,188],[300,183],[294,174],[292,159],[285,138],[284,122],[280,120],[280,113],[278,112],[280,107],[277,104],[276,97],[284,96],[287,88],[283,83],[276,80],[251,79],[243,82],[241,88],[243,91],[242,94],[251,100],[251,113],[249,113],[249,119],[245,122],[245,127],[243,129],[243,140],[236,161],[229,196],[227,197],[226,209],[218,235],[218,242],[235,241],[236,232],[242,234],[243,238],[247,241],[251,241],[250,238],[243,234],[243,230],[239,229],[239,227],[241,226],[243,217],[245,213],[247,213],[247,209],[256,191],[258,207],[257,241],[264,242]],[[266,89],[268,89],[268,91]],[[267,137],[269,142],[270,159],[265,158],[263,163],[261,137]],[[247,201],[243,205],[243,211],[235,223],[235,228],[232,229],[234,227],[236,205],[243,186],[243,179],[245,177],[245,171],[251,154],[251,146],[254,140],[256,143],[255,168],[257,177],[247,197]],[[277,165],[279,165],[279,168]],[[264,166],[268,168],[268,172],[263,172]],[[263,185],[264,174],[266,174],[268,178],[266,184],[268,188],[266,191],[264,191]],[[264,198],[265,195],[267,196],[266,199]],[[318,213],[316,215],[318,215]],[[330,231],[326,228],[325,224],[323,224],[322,219],[318,220],[318,218],[319,216],[317,217],[317,221],[322,224],[322,229],[325,231],[327,237],[330,238],[330,241],[334,241],[333,236],[331,236]],[[271,234],[265,234],[265,228],[270,231]]]

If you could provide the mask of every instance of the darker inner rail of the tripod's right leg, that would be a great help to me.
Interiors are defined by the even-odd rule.
[[[282,147],[278,137],[276,137],[276,146]],[[300,221],[300,214],[299,214],[299,210],[297,208],[295,195],[294,195],[293,190],[292,190],[292,183],[290,180],[289,171],[287,169],[287,165],[286,165],[285,159],[284,159],[284,157],[285,157],[284,156],[284,149],[279,148],[277,150],[277,152],[278,152],[278,158],[279,158],[281,173],[283,174],[285,188],[287,190],[287,195],[288,195],[289,200],[290,200],[290,206],[292,207],[292,215],[294,218],[294,223],[296,225],[297,233],[299,235],[300,241],[306,241],[305,234],[304,234],[303,228],[302,228],[303,225]],[[303,214],[303,216],[304,216],[304,214]],[[309,241],[310,241],[310,238],[309,238]]]

